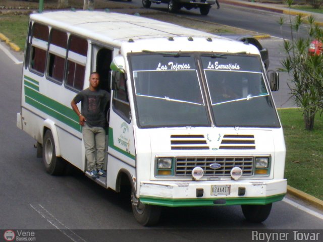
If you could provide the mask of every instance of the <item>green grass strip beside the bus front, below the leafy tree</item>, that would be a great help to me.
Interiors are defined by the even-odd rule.
[[[316,114],[314,130],[306,131],[300,109],[279,109],[286,143],[288,185],[323,200],[323,116]]]

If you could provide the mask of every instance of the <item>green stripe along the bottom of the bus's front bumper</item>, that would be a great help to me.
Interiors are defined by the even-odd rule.
[[[166,206],[166,207],[199,207],[199,206],[229,206],[229,205],[266,205],[283,200],[286,194],[279,194],[269,197],[257,198],[200,198],[200,199],[167,199],[156,197],[140,197],[140,202],[148,205]],[[225,200],[216,204],[217,200]],[[215,204],[214,204],[215,202]]]

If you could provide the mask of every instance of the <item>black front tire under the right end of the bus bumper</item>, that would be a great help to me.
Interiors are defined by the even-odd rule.
[[[272,205],[272,203],[266,205],[241,205],[241,208],[247,221],[260,223],[267,219],[271,213]]]

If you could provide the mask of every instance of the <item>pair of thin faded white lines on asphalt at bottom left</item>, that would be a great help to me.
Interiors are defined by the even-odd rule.
[[[70,238],[74,242],[86,242],[82,237],[77,235],[73,230],[68,228],[66,225],[64,225],[60,220],[58,220],[55,216],[53,216],[51,213],[49,213],[43,206],[38,204],[40,208],[35,208],[31,204],[29,204],[32,209],[34,209],[40,216],[42,216],[44,219],[46,219],[52,226],[56,227],[58,230],[60,230],[64,235],[66,235],[68,238]]]

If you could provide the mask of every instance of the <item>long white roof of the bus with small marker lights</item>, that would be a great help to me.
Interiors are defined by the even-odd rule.
[[[130,48],[131,51],[141,51],[147,49],[147,46],[155,45],[159,50],[165,46],[165,50],[167,48],[169,51],[176,51],[180,46],[181,51],[196,49],[224,52],[226,49],[225,52],[245,51],[258,54],[254,46],[248,48],[247,45],[238,41],[232,42],[233,40],[214,34],[128,14],[103,11],[53,11],[32,14],[30,19],[94,41],[123,46],[128,50]],[[194,43],[192,39],[188,39],[189,37],[194,40]],[[170,43],[170,40],[173,40],[171,38],[179,39],[179,41]],[[129,47],[134,41],[139,43]],[[218,43],[215,44],[214,41]],[[150,50],[157,49],[151,48]]]

